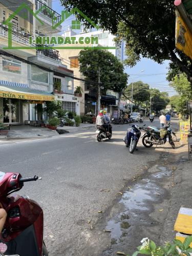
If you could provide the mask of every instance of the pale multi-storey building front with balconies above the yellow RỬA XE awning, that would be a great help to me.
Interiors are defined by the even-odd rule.
[[[17,11],[19,5],[23,7]],[[46,119],[42,108],[46,101],[54,99],[62,101],[63,109],[78,111],[73,71],[61,62],[58,51],[46,45],[39,49],[39,45],[29,42],[30,36],[49,36],[61,31],[61,25],[52,29],[52,22],[59,23],[61,15],[51,8],[50,0],[18,0],[15,4],[12,0],[0,0],[1,122],[23,124]],[[58,92],[55,87],[59,82]]]

